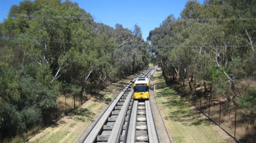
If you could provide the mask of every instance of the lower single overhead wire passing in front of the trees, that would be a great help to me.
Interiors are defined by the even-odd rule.
[[[81,44],[81,45],[117,45],[117,44],[106,44],[106,43],[78,43],[78,42],[62,42],[62,41],[45,41],[45,40],[37,40],[37,39],[23,39],[23,38],[10,38],[10,37],[0,37],[2,39],[11,39],[11,40],[24,40],[24,41],[32,41],[32,42],[51,42],[51,43],[63,43],[63,44]],[[123,46],[136,46],[136,47],[190,47],[190,48],[225,48],[225,47],[234,47],[234,48],[243,48],[249,47],[248,45],[229,45],[229,46],[204,46],[204,45],[133,45],[133,44],[124,44]]]

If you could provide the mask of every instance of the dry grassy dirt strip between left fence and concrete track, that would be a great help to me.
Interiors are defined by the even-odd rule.
[[[97,97],[92,97],[78,109],[61,118],[54,125],[45,128],[29,140],[31,143],[67,143],[73,142],[80,133],[93,121],[94,117],[108,105],[106,99],[113,98],[119,90],[137,75],[131,75],[102,90]],[[101,96],[99,98],[98,96]]]

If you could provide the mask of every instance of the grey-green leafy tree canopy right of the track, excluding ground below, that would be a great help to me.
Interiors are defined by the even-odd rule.
[[[181,18],[169,15],[147,38],[165,78],[187,79],[191,91],[192,82],[204,81],[226,95],[229,104],[236,105],[240,97],[239,103],[245,101],[236,81],[256,74],[256,20],[247,19],[255,18],[255,7],[250,0],[205,0],[202,5],[190,0]]]

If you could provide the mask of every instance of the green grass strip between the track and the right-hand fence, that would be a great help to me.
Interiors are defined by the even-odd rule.
[[[156,72],[154,76],[156,100],[174,143],[226,142],[212,129],[213,125],[207,118],[165,84],[162,72]]]

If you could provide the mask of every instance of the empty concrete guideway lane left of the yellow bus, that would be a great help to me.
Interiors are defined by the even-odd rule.
[[[155,70],[155,68],[151,67],[140,76],[148,76],[152,69]],[[90,131],[87,131],[86,135],[81,133],[75,142],[95,143],[108,141],[109,143],[117,143],[123,142],[126,139],[126,127],[129,125],[130,109],[133,106],[133,81],[119,92],[105,112],[91,127]],[[80,141],[83,138],[81,136],[84,136],[83,141]]]

